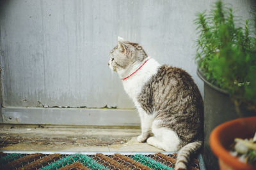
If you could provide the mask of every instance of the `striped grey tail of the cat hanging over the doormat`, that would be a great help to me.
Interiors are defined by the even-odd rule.
[[[195,141],[193,143],[189,143],[188,145],[183,146],[177,155],[175,170],[188,169],[191,155],[196,154],[201,146],[202,141]]]

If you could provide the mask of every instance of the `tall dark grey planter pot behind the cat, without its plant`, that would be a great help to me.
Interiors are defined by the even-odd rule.
[[[218,125],[239,118],[234,103],[228,93],[206,80],[204,74],[197,70],[198,76],[204,81],[204,148],[203,158],[206,169],[218,169],[218,159],[211,152],[209,137]],[[242,111],[243,112],[243,111]],[[243,117],[248,117],[246,113]]]

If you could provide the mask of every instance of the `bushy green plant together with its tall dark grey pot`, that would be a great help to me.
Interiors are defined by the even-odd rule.
[[[203,156],[208,169],[218,164],[209,146],[212,129],[256,115],[256,17],[243,26],[239,21],[221,1],[209,15],[198,13],[195,20],[197,73],[204,81]]]

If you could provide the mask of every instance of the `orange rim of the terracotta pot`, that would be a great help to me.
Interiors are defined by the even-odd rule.
[[[225,122],[224,124],[218,125],[210,135],[210,146],[212,152],[218,157],[218,159],[223,160],[228,166],[234,167],[235,169],[254,169],[255,167],[250,166],[244,162],[241,162],[237,157],[233,157],[230,155],[229,151],[223,146],[223,144],[220,142],[220,134],[229,125],[237,124],[241,122],[241,120],[252,120],[256,117],[248,117],[248,118],[237,118],[235,120],[231,120],[228,122]]]

